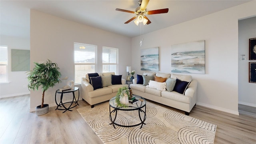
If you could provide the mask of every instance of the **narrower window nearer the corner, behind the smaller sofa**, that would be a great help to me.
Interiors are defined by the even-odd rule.
[[[115,72],[118,70],[118,48],[102,48],[102,72]]]

